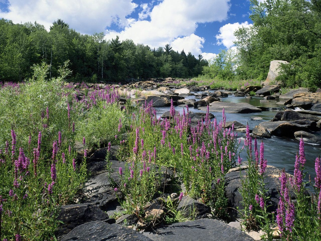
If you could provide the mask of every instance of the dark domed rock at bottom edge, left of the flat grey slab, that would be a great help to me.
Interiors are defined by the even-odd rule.
[[[94,221],[74,228],[61,241],[151,241],[150,238],[118,224]]]

